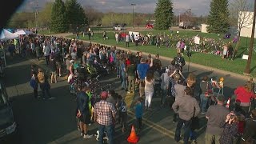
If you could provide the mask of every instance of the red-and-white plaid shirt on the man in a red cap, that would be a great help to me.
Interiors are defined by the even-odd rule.
[[[100,125],[110,126],[113,124],[113,114],[116,114],[114,105],[104,100],[97,102],[94,106],[94,114],[97,115],[97,122]]]

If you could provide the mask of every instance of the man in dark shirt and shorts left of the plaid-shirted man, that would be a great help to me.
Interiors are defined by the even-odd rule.
[[[81,136],[83,138],[91,138],[92,135],[88,134],[88,125],[90,124],[90,109],[89,109],[89,96],[86,90],[89,90],[88,85],[82,86],[82,90],[78,93],[78,118],[80,122]]]

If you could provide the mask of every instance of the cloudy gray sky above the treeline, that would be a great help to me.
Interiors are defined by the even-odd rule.
[[[39,9],[42,9],[46,2],[54,2],[54,0],[26,0],[19,10],[31,11],[37,2]],[[130,4],[134,3],[136,5],[134,6],[134,12],[152,14],[158,0],[78,0],[78,2],[82,6],[92,6],[102,12],[113,11],[120,13],[132,13],[133,7]],[[191,9],[191,12],[198,16],[209,14],[210,0],[172,0],[172,2],[174,3],[174,14],[176,15],[188,9]]]

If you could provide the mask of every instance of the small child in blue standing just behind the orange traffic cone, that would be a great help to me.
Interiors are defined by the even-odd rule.
[[[138,98],[135,106],[135,116],[136,116],[136,121],[137,121],[137,126],[138,126],[138,131],[142,130],[142,114],[143,114],[143,98]]]

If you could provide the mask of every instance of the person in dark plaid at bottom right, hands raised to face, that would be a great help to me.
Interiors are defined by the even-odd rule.
[[[224,128],[219,142],[222,144],[233,144],[235,137],[238,135],[238,117],[233,112],[226,115],[226,121],[221,123]]]

